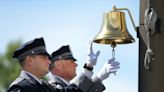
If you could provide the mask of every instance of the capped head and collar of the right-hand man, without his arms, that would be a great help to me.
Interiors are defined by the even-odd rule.
[[[54,83],[58,88],[69,86],[69,81],[76,76],[76,59],[73,57],[69,45],[62,46],[52,53],[50,70],[53,74],[50,83]]]

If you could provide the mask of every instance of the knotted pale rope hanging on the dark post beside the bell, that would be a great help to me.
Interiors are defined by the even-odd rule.
[[[148,5],[149,6],[149,5]],[[155,23],[157,21],[157,14],[153,8],[148,7],[145,10],[144,25],[146,29],[146,41],[147,41],[147,50],[145,53],[144,66],[145,69],[149,69],[149,64],[151,62],[151,56],[153,56],[153,51],[150,48],[150,35],[155,33]],[[154,58],[152,58],[154,60]]]

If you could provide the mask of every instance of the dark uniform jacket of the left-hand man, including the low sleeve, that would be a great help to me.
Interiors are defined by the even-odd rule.
[[[7,92],[82,92],[76,85],[62,89],[53,88],[49,83],[39,83],[32,76],[21,72],[19,78],[12,82]]]

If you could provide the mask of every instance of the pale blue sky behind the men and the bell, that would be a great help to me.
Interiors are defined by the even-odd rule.
[[[0,0],[0,54],[11,41],[43,37],[49,53],[70,45],[78,60],[79,74],[86,61],[88,41],[98,34],[104,12],[111,11],[114,5],[128,8],[136,26],[139,24],[139,0]],[[104,92],[138,92],[138,38],[127,12],[123,12],[136,42],[115,48],[120,69],[103,81]],[[95,76],[112,57],[112,48],[94,43],[93,50],[101,52],[94,67]]]

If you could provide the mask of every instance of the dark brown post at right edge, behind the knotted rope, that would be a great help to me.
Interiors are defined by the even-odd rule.
[[[150,6],[155,9],[158,15],[158,32],[150,37],[150,47],[155,57],[155,60],[150,63],[150,70],[144,68],[146,33],[143,21],[146,1],[140,0],[139,92],[164,92],[164,1],[150,0]]]

